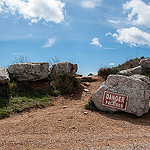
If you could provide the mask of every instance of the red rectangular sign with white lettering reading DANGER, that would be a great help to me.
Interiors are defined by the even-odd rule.
[[[126,110],[127,96],[105,91],[103,97],[103,105],[121,110]]]

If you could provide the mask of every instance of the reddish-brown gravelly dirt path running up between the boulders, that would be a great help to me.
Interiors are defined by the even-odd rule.
[[[89,94],[58,97],[54,106],[0,120],[0,150],[150,149],[150,113],[84,109],[100,84],[90,83]]]

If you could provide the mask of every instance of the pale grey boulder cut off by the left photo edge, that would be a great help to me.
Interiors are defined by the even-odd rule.
[[[8,84],[9,81],[10,79],[7,69],[0,67],[0,84]]]

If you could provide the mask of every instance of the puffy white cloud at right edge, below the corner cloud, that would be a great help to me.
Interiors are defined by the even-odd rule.
[[[136,27],[118,29],[113,37],[119,43],[128,43],[130,46],[150,46],[150,34],[139,30]]]

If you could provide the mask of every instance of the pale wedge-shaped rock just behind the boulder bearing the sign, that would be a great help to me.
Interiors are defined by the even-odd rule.
[[[141,74],[142,75],[142,67],[138,66],[138,67],[135,67],[135,68],[122,70],[119,73],[121,75],[125,75],[125,76],[131,76],[131,75],[134,75],[134,74]]]

